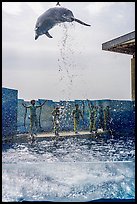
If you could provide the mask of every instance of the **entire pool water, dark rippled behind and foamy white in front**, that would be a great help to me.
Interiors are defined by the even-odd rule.
[[[100,198],[135,198],[133,138],[3,144],[3,202],[85,202]]]

